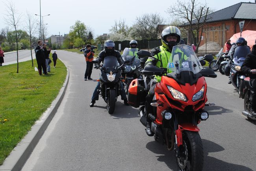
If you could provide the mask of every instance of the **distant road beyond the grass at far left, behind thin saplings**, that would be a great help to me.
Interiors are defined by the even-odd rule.
[[[31,60],[31,52],[30,50],[22,50],[19,51],[19,62],[24,62],[27,60]],[[35,51],[32,49],[33,59],[35,58]],[[17,63],[17,53],[4,53],[4,63],[3,65],[15,64]]]

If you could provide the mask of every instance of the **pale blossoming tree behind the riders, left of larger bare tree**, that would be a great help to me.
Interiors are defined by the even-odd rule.
[[[109,31],[113,34],[119,33],[124,36],[124,39],[128,38],[130,35],[130,32],[132,30],[132,27],[129,27],[128,25],[125,24],[125,20],[115,20],[115,25],[111,26],[111,29]]]

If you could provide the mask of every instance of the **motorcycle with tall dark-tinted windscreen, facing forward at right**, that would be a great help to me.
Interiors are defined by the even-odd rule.
[[[236,88],[236,90],[239,93],[239,97],[243,96],[243,89],[245,88],[245,83],[243,80],[246,77],[245,74],[240,69],[248,53],[250,53],[250,48],[248,46],[238,46],[235,49],[233,60],[230,60],[229,76],[232,85]]]

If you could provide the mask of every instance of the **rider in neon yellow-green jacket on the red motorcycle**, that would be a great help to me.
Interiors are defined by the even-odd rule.
[[[168,26],[163,29],[161,33],[161,43],[160,47],[155,47],[151,50],[151,54],[153,57],[149,57],[147,62],[145,63],[145,67],[147,65],[154,65],[157,67],[167,67],[169,62],[171,52],[173,50],[173,46],[180,44],[180,30],[175,26]],[[186,56],[182,56],[186,59]],[[145,102],[145,114],[147,115],[147,128],[146,133],[148,136],[153,136],[154,133],[151,131],[151,122],[152,120],[148,117],[149,113],[153,113],[152,106],[150,103],[153,100],[155,94],[155,85],[157,82],[161,81],[161,76],[155,76],[154,82],[148,91],[148,95],[146,96]]]

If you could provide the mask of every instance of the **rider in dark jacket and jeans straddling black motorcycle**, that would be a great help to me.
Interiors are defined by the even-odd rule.
[[[124,64],[124,61],[122,60],[121,54],[119,53],[119,51],[115,50],[115,43],[112,40],[106,40],[106,42],[104,43],[104,50],[101,51],[98,55],[98,57],[96,58],[96,60],[98,60],[98,64],[95,64],[95,67],[98,69],[100,67],[100,62],[104,63],[104,58],[106,56],[115,56],[117,57],[117,61],[119,62],[120,65]],[[124,69],[124,67],[122,67],[122,69]],[[100,89],[100,82],[98,82],[97,86],[95,87],[95,90],[93,92],[93,96],[91,98],[91,104],[90,107],[93,107],[96,100],[99,99],[99,90]],[[126,97],[126,93],[124,90],[124,87],[122,86],[122,84],[120,84],[120,95],[121,95],[121,99],[124,100],[124,104],[125,105],[129,105],[128,104],[128,100]]]

